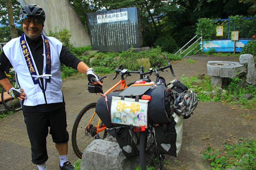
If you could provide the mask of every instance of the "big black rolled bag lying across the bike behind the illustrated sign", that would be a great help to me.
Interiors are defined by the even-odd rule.
[[[108,108],[105,97],[102,96],[97,101],[95,111],[107,128],[123,126],[111,123],[110,119],[112,96],[119,96],[120,93],[121,91],[116,91],[106,95]],[[149,89],[145,95],[151,96],[151,100],[148,102],[148,123],[169,123],[174,109],[173,104],[171,104],[171,95],[166,91],[165,87],[163,85],[154,87]]]

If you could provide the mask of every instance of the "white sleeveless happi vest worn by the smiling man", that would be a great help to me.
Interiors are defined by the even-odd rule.
[[[23,35],[22,35],[23,36]],[[24,37],[25,38],[25,37]],[[42,35],[43,38],[43,35]],[[44,38],[43,38],[44,39]],[[47,87],[45,90],[45,96],[47,103],[59,103],[63,102],[63,96],[61,91],[62,81],[61,81],[61,71],[60,71],[60,51],[62,49],[62,43],[54,37],[47,37],[50,46],[50,82],[47,82],[46,79],[43,79],[44,87]],[[43,75],[46,74],[46,46],[45,41],[43,42]],[[34,65],[35,76],[40,76],[35,65],[35,61],[32,57],[32,53],[27,45],[27,49],[31,55],[31,59]],[[11,62],[15,72],[17,73],[18,81],[20,88],[24,90],[24,93],[27,95],[27,98],[24,100],[24,105],[26,106],[35,106],[39,104],[45,104],[45,97],[43,91],[40,88],[39,84],[34,84],[31,75],[31,67],[27,65],[26,57],[23,54],[21,48],[20,37],[14,38],[9,41],[3,47],[6,57]],[[49,56],[49,55],[48,55]],[[42,87],[42,86],[41,86]]]

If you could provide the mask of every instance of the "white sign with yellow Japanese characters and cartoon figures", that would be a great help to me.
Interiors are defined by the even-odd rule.
[[[148,100],[112,97],[111,122],[147,128]]]

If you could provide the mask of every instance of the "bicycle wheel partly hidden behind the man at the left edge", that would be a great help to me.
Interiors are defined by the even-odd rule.
[[[10,80],[10,83],[12,84],[12,87],[15,87],[16,80],[15,79]],[[2,104],[4,104],[5,108],[14,112],[21,110],[22,108],[21,108],[20,100],[14,97],[10,99],[6,99],[4,95],[5,92],[6,90],[2,88],[1,99],[2,99]]]

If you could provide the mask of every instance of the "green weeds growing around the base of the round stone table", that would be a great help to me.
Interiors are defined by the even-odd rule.
[[[184,74],[182,75],[184,76]],[[243,109],[256,110],[256,86],[247,85],[243,88],[240,86],[242,81],[239,77],[230,78],[230,84],[223,87],[226,91],[224,94],[219,92],[216,88],[216,93],[212,93],[211,88],[211,76],[204,76],[202,80],[198,80],[198,77],[181,77],[181,82],[184,83],[188,88],[192,88],[197,93],[197,98],[202,102],[226,102],[232,105],[239,104]],[[244,98],[243,95],[251,94],[252,98]]]

